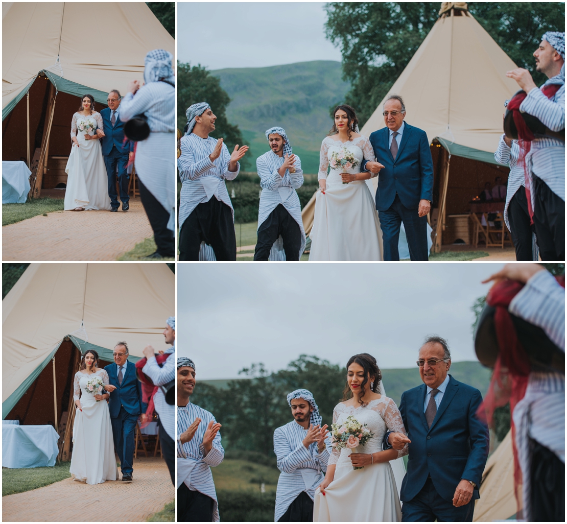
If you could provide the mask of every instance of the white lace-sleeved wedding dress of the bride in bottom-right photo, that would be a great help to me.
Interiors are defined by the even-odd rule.
[[[401,505],[399,488],[390,462],[365,466],[354,470],[350,453],[375,453],[382,451],[382,439],[387,431],[405,433],[399,409],[392,399],[382,395],[365,407],[337,404],[333,411],[333,423],[339,424],[352,415],[366,424],[374,437],[364,446],[354,450],[333,449],[329,465],[336,464],[335,477],[321,495],[315,491],[314,522],[399,522]],[[398,457],[407,453],[407,447]],[[396,461],[393,461],[396,462]]]

